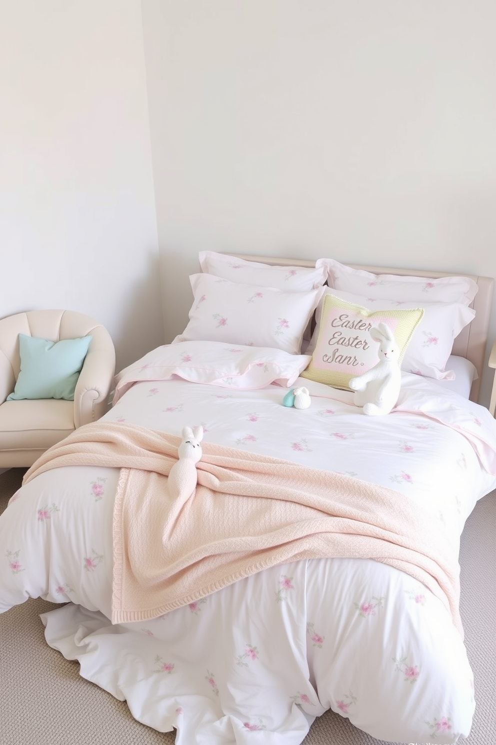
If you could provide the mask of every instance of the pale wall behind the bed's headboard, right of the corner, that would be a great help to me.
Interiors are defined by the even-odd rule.
[[[496,276],[493,0],[142,9],[166,340],[201,249]]]

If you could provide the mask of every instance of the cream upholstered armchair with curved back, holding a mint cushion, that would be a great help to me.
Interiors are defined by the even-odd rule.
[[[21,367],[19,333],[55,342],[91,335],[74,401],[6,401]],[[114,374],[112,337],[93,318],[74,311],[47,310],[0,319],[0,468],[32,466],[47,448],[103,416]]]

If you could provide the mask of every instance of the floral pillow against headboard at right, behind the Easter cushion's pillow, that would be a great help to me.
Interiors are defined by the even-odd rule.
[[[439,279],[428,277],[373,274],[363,269],[353,269],[335,259],[318,259],[315,266],[327,267],[327,284],[335,290],[344,290],[378,300],[403,300],[405,302],[461,302],[470,305],[477,294],[477,282],[470,277],[447,276]]]

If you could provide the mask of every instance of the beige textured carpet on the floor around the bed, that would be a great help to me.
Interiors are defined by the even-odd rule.
[[[0,513],[23,469],[0,475]],[[477,708],[467,745],[496,744],[496,492],[481,500],[463,532],[461,613],[474,671]],[[173,745],[135,721],[125,702],[79,676],[45,643],[39,614],[57,606],[27,600],[0,615],[0,745]],[[194,745],[193,743],[191,745]],[[326,712],[304,745],[379,745]]]

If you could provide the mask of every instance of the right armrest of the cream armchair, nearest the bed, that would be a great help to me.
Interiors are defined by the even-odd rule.
[[[74,426],[95,422],[106,413],[115,375],[115,348],[103,326],[91,329],[91,343],[74,390]]]

